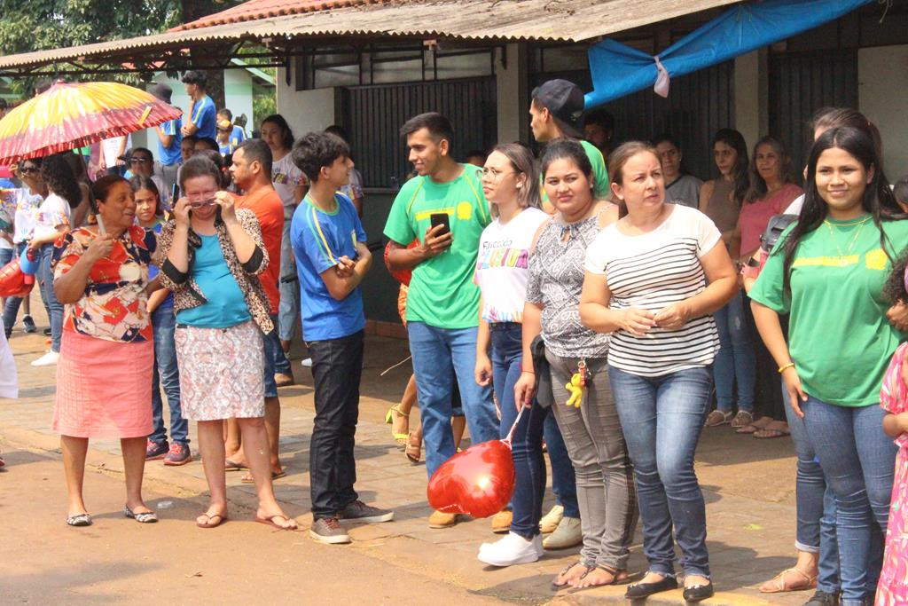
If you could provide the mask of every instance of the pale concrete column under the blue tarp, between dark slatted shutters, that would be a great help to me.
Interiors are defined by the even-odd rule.
[[[769,82],[765,48],[735,57],[735,128],[748,147],[769,134]]]

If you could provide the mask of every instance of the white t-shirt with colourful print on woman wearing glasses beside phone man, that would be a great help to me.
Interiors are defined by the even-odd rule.
[[[498,217],[479,236],[476,283],[482,292],[482,319],[489,323],[522,322],[527,302],[529,249],[548,214],[526,208],[501,224]]]

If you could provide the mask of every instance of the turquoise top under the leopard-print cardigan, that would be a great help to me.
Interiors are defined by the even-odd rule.
[[[199,285],[205,303],[176,313],[176,321],[200,328],[230,328],[252,318],[240,286],[236,283],[218,236],[202,235],[202,246],[192,259],[192,278]]]

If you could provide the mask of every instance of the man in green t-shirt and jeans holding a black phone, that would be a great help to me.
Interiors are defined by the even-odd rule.
[[[479,288],[473,271],[479,235],[491,221],[479,169],[451,156],[453,129],[441,114],[419,114],[400,128],[418,176],[400,189],[385,235],[392,270],[412,269],[407,331],[419,393],[429,477],[455,452],[450,428],[454,375],[473,443],[498,439],[491,386],[477,385]],[[407,244],[419,238],[419,246]],[[453,513],[433,512],[429,527],[457,523]]]

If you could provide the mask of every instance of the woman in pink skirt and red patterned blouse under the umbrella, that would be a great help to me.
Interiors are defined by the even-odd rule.
[[[82,485],[89,438],[119,438],[126,478],[123,514],[157,522],[142,499],[145,438],[152,432],[154,346],[147,312],[153,233],[134,224],[123,177],[94,183],[97,225],[66,233],[54,248],[54,292],[66,304],[57,366],[54,430],[60,432],[70,526],[89,526]]]

